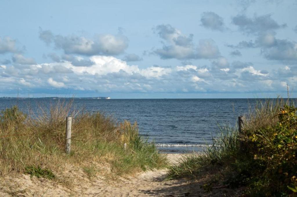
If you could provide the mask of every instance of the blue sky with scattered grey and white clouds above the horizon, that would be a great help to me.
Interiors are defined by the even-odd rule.
[[[0,97],[297,97],[297,0],[0,5]]]

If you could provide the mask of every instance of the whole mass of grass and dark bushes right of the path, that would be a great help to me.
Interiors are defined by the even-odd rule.
[[[220,128],[205,154],[187,156],[170,168],[168,179],[215,173],[228,188],[248,196],[297,195],[297,108],[293,101],[257,102],[244,131]]]

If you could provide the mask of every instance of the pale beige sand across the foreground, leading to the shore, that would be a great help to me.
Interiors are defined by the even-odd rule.
[[[177,163],[181,154],[166,154]],[[6,179],[0,196],[208,196],[200,188],[201,181],[180,179],[164,181],[167,169],[151,170],[117,181],[105,177],[88,179],[81,170],[69,170],[70,186],[29,175]],[[202,177],[205,179],[205,177]],[[64,185],[64,186],[63,186]],[[214,194],[214,193],[212,193]]]

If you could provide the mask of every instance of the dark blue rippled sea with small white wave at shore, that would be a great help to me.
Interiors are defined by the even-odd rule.
[[[0,100],[0,110],[16,104]],[[56,100],[18,100],[27,113]],[[139,132],[154,141],[162,152],[202,151],[219,131],[218,125],[236,126],[237,117],[248,114],[255,99],[75,99],[78,108],[103,112],[116,121],[137,121]]]

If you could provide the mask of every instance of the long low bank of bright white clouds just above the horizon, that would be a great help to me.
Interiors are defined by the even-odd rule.
[[[280,84],[283,81],[297,83],[292,78],[297,72],[294,66],[283,66],[272,73],[256,69],[251,63],[233,62],[229,68],[224,57],[202,67],[184,65],[140,68],[111,56],[91,56],[87,60],[94,64],[74,66],[65,61],[30,66],[7,65],[6,69],[0,69],[0,84],[2,87],[8,87],[9,84],[10,87],[24,89],[29,86],[37,88],[37,91],[48,89],[50,85],[74,92],[195,93],[258,91],[258,87],[272,91],[273,87],[282,87]],[[221,67],[214,69],[214,64]]]

